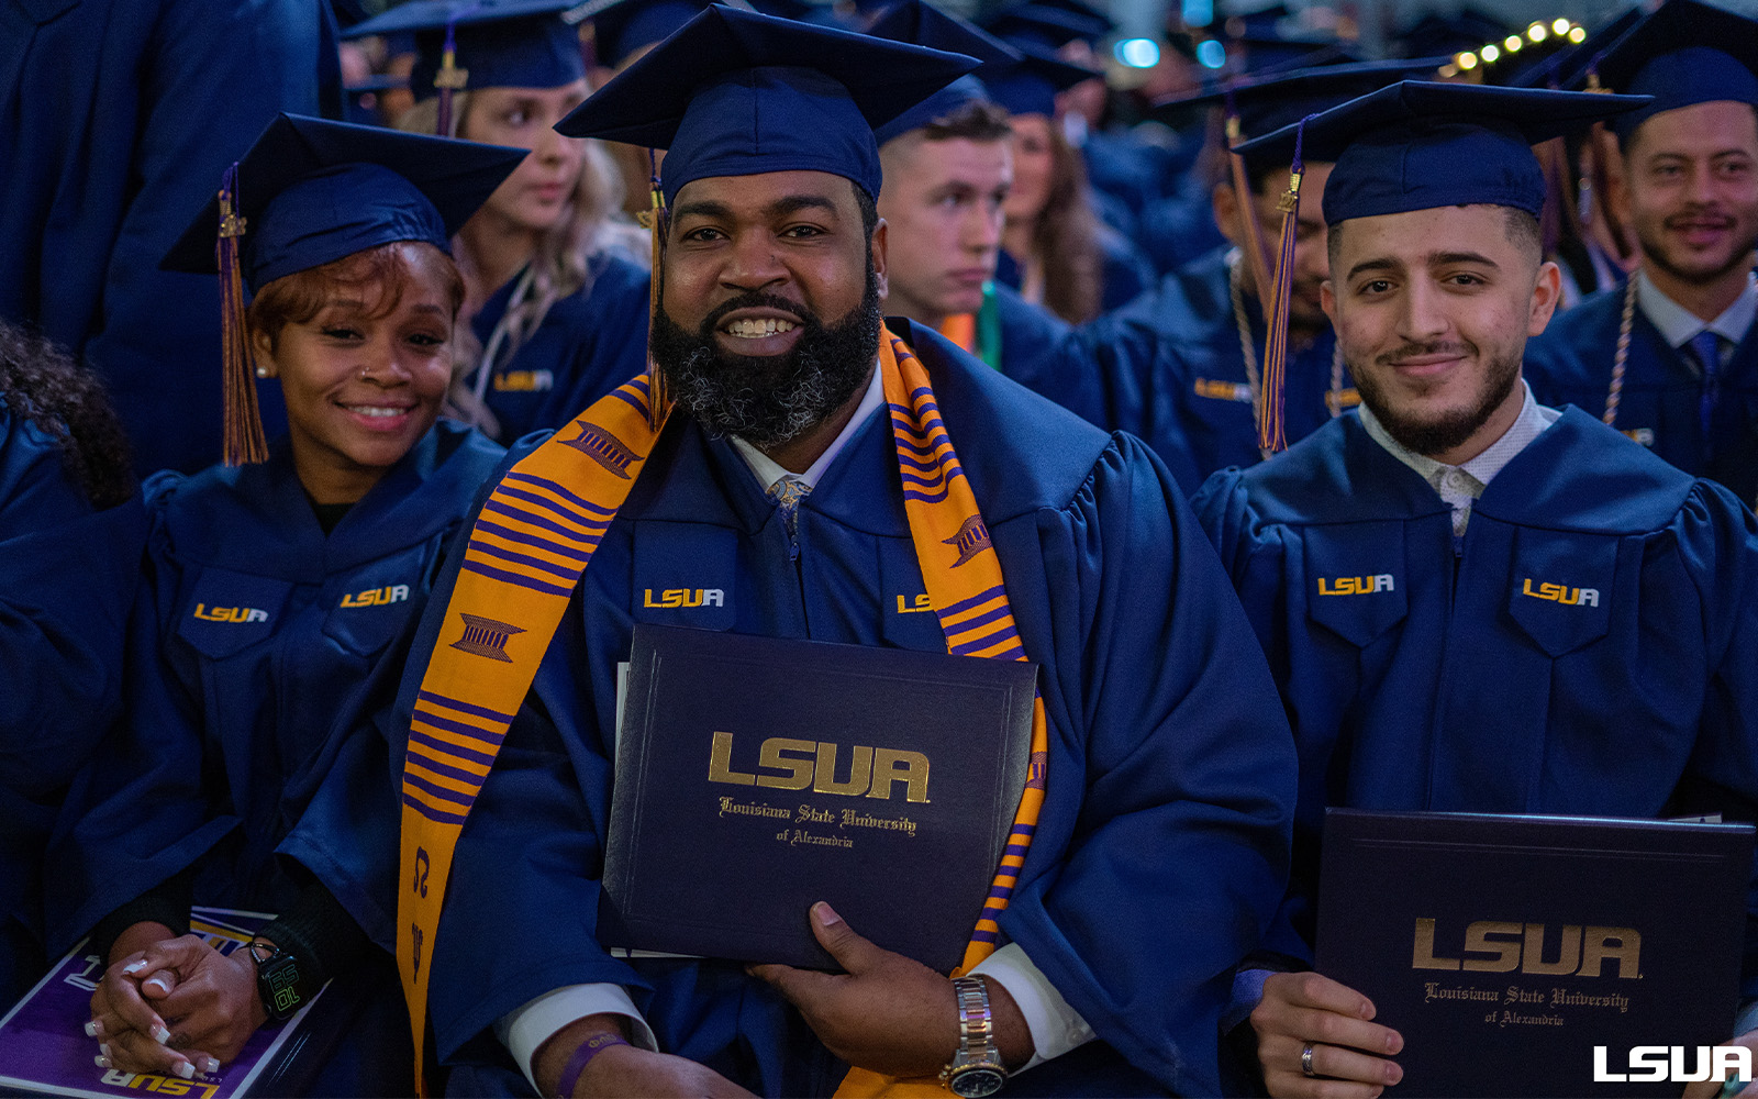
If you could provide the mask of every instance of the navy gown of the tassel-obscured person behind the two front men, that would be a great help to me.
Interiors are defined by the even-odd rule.
[[[1245,309],[1262,368],[1264,317],[1255,297],[1245,299]],[[1106,426],[1146,440],[1187,494],[1217,469],[1262,461],[1227,290],[1227,250],[1211,251],[1111,317],[1083,325],[1079,341],[1108,389]],[[1283,390],[1289,443],[1331,420],[1334,348],[1336,336],[1327,327],[1308,346],[1289,352]],[[1352,396],[1347,368],[1343,385]]]

